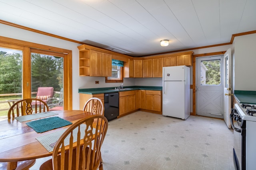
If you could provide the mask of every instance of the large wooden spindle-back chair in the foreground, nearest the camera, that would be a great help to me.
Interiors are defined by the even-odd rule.
[[[40,170],[103,170],[100,149],[107,129],[108,120],[103,115],[80,119],[61,135],[54,146],[52,159],[44,162]],[[81,137],[82,140],[74,140]]]

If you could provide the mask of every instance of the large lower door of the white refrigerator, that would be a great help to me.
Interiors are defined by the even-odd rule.
[[[185,82],[163,82],[163,115],[186,119],[185,115]]]

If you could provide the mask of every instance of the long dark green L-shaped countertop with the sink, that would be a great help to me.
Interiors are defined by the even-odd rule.
[[[130,89],[128,89],[128,90],[114,90],[115,87],[81,88],[81,89],[78,89],[78,93],[101,94],[101,93],[123,92],[123,91],[129,91],[129,90],[162,90],[162,86],[124,86],[124,88],[130,88]]]

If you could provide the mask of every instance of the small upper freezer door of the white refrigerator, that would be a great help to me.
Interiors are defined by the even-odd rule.
[[[163,81],[184,81],[186,66],[163,67]]]

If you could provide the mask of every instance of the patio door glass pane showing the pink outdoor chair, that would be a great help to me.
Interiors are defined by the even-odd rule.
[[[54,93],[38,87],[53,87]],[[63,57],[31,53],[31,96],[46,100],[49,109],[63,109]]]

